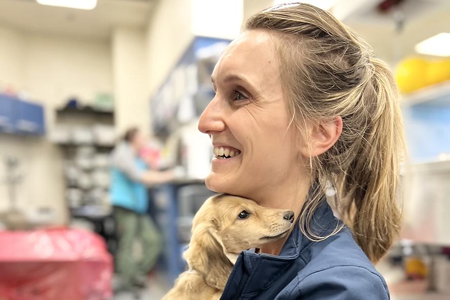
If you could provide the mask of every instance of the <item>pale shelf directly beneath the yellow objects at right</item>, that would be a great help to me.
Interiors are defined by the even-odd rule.
[[[450,106],[450,81],[445,81],[407,94],[403,97],[401,104],[405,106],[417,104]]]

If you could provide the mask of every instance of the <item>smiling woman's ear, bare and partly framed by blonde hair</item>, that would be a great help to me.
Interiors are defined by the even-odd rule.
[[[316,157],[331,148],[342,132],[342,118],[336,116],[326,121],[319,120],[306,123],[302,134],[300,152],[303,157]]]

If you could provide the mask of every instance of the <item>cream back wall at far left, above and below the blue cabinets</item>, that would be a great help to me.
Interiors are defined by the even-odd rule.
[[[54,110],[67,97],[92,100],[97,92],[112,92],[111,50],[108,41],[74,40],[24,33],[0,24],[0,82],[26,89],[45,107],[46,125],[54,126]],[[67,220],[60,149],[45,137],[0,135],[0,178],[4,157],[20,159],[23,181],[18,206],[27,211],[50,207],[55,223]],[[0,211],[8,208],[6,185],[0,184]]]

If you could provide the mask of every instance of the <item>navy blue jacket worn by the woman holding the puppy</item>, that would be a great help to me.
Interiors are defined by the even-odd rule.
[[[311,228],[324,236],[339,224],[324,202]],[[221,300],[385,300],[383,277],[356,244],[349,228],[311,242],[295,226],[279,256],[243,251]]]

